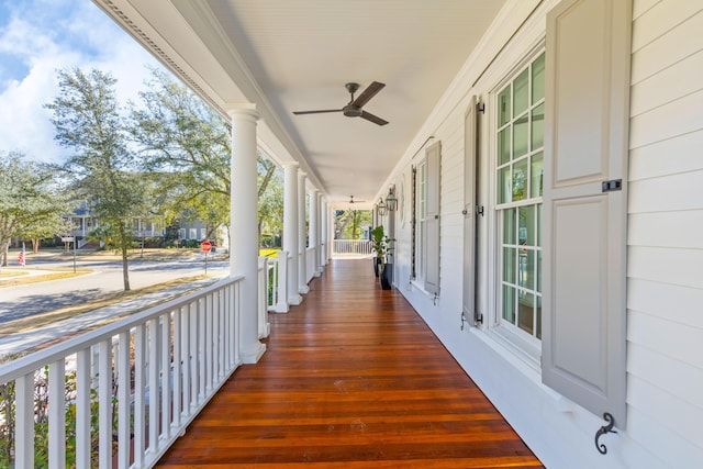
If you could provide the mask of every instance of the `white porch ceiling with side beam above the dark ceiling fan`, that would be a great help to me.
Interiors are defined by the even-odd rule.
[[[224,112],[255,103],[279,164],[298,160],[333,204],[370,205],[504,0],[94,0]],[[386,83],[342,113],[346,82]],[[358,96],[358,92],[357,92]],[[428,136],[428,135],[426,135]],[[424,139],[426,136],[420,136]],[[357,206],[362,206],[359,204]]]

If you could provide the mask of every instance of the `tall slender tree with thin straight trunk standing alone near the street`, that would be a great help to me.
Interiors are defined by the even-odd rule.
[[[101,225],[114,230],[127,291],[131,222],[147,211],[147,201],[144,178],[134,170],[115,82],[97,69],[59,70],[59,94],[46,108],[54,111],[55,139],[76,152],[64,165],[65,172],[74,179],[78,196],[91,201]]]

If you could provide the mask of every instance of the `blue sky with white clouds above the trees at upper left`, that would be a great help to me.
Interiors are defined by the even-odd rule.
[[[160,65],[90,0],[0,0],[0,153],[47,163],[70,154],[44,104],[58,93],[57,70],[76,67],[110,72],[126,104]]]

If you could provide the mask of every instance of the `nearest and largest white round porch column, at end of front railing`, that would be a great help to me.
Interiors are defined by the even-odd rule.
[[[239,356],[255,364],[266,351],[258,339],[258,253],[256,121],[254,105],[228,110],[232,118],[230,191],[230,276],[242,275],[239,289]]]

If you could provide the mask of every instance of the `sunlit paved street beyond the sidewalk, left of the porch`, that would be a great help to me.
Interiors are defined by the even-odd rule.
[[[72,257],[68,256],[31,256],[26,268],[72,268]],[[87,303],[104,294],[124,290],[122,261],[112,256],[97,260],[78,258],[77,267],[93,271],[68,279],[0,288],[0,324]],[[129,263],[130,287],[136,290],[181,277],[197,276],[204,273],[204,268],[203,253],[164,260],[135,257]],[[227,269],[228,260],[209,258],[208,275],[225,275]]]

